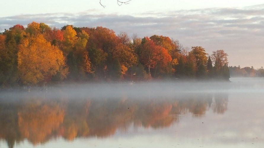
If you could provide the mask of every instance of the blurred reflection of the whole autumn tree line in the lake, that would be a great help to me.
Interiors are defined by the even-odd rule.
[[[170,98],[39,99],[31,97],[0,102],[0,139],[8,147],[27,139],[33,145],[54,137],[106,137],[117,130],[164,128],[179,122],[180,115],[223,114],[227,94],[179,94]],[[176,118],[175,118],[176,117]]]

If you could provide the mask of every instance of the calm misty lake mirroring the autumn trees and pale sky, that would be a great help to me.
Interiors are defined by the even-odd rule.
[[[264,79],[1,91],[0,147],[263,147]]]

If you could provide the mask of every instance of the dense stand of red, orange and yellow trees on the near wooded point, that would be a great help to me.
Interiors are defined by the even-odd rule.
[[[229,80],[227,54],[189,51],[178,40],[153,35],[130,38],[104,27],[51,28],[32,22],[0,34],[0,86],[43,82]]]

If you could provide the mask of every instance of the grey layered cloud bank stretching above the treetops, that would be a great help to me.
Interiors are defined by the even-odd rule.
[[[103,26],[116,33],[125,31],[130,36],[136,33],[139,37],[163,35],[178,39],[184,46],[203,46],[208,53],[224,49],[233,56],[233,61],[231,59],[229,63],[237,65],[244,62],[238,57],[245,56],[239,55],[239,50],[263,49],[263,6],[145,12],[137,15],[102,14],[94,9],[76,14],[17,15],[1,17],[0,28],[8,29],[15,24],[26,26],[35,21],[58,28],[67,24],[78,27]],[[255,65],[260,67],[256,63]]]

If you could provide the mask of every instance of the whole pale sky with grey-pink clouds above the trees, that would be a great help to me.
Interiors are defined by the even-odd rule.
[[[224,50],[229,66],[264,67],[263,0],[1,0],[0,31],[44,22],[61,28],[103,26],[138,37],[162,35],[184,47]]]

